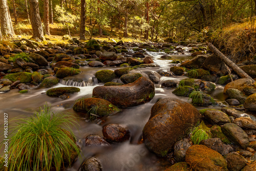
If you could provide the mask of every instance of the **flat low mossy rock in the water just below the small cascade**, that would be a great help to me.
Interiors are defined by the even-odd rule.
[[[47,90],[46,94],[52,97],[59,97],[61,95],[69,95],[77,92],[80,92],[80,89],[76,87],[59,87]]]

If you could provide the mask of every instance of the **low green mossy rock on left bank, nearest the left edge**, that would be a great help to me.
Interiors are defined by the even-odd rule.
[[[3,78],[7,78],[13,82],[20,80],[21,83],[28,83],[32,81],[32,73],[18,72],[18,73],[8,74]]]

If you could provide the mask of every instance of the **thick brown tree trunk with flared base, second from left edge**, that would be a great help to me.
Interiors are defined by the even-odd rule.
[[[29,0],[30,14],[31,14],[31,26],[33,31],[33,38],[38,37],[39,39],[44,38],[44,32],[42,31],[42,23],[39,15],[39,3],[38,0]]]

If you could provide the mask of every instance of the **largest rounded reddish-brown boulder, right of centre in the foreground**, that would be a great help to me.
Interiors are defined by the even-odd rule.
[[[143,129],[143,140],[150,151],[166,156],[186,130],[200,120],[200,113],[191,104],[164,98],[151,108],[150,119]]]

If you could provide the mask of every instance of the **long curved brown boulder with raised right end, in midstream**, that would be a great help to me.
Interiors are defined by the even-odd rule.
[[[98,86],[93,89],[93,96],[127,108],[150,101],[155,96],[155,86],[151,80],[140,77],[123,86]]]

